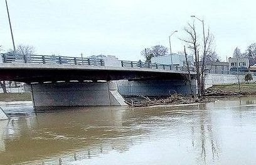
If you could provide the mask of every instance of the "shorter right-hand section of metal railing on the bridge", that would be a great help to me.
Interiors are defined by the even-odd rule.
[[[159,70],[181,70],[188,71],[187,67],[182,67],[179,65],[165,65],[159,63],[145,63],[142,61],[121,61],[122,67],[127,68],[151,68],[151,69],[159,69]],[[189,70],[195,71],[195,68],[189,67]]]

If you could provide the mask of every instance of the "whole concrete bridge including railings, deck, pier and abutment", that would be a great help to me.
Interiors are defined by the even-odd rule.
[[[27,83],[35,108],[125,105],[121,95],[189,93],[188,68],[180,66],[17,54],[1,54],[1,60],[0,80]]]

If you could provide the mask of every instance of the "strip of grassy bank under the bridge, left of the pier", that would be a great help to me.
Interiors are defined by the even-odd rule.
[[[30,92],[0,93],[0,102],[31,101]]]

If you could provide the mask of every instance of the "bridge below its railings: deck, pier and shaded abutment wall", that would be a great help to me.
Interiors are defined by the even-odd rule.
[[[0,65],[1,81],[28,84],[35,109],[125,105],[122,95],[188,94],[187,78],[188,72],[182,70],[13,63]],[[76,82],[71,83],[72,80]],[[114,80],[129,80],[130,84],[119,84],[117,88]]]

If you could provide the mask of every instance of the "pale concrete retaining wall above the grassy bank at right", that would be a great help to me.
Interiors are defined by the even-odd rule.
[[[256,80],[255,76],[252,76],[253,80]],[[245,82],[245,75],[240,75],[240,82]],[[225,83],[238,83],[237,75],[225,75],[206,73],[205,76],[205,88],[210,88],[213,85],[220,85]]]

